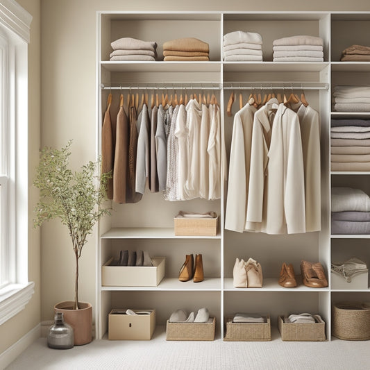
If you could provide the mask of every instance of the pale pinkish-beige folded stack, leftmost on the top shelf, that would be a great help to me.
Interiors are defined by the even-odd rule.
[[[132,37],[122,37],[113,41],[110,46],[110,60],[156,60],[157,43],[142,41]]]

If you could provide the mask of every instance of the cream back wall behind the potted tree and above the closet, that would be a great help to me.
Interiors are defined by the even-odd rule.
[[[368,0],[42,0],[42,145],[72,138],[72,164],[96,154],[97,10],[370,10]],[[169,35],[170,36],[170,35]],[[96,235],[81,258],[80,299],[95,305]],[[73,298],[74,256],[67,230],[53,221],[42,228],[42,320],[55,303]]]

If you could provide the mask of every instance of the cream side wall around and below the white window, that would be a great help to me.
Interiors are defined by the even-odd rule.
[[[32,227],[37,203],[32,178],[40,148],[40,0],[17,2],[33,16],[28,45],[28,280],[35,282],[35,293],[24,310],[0,326],[0,353],[40,323],[40,230]]]

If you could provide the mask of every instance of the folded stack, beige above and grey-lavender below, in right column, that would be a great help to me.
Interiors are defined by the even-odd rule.
[[[360,189],[332,187],[331,233],[370,234],[370,196]]]

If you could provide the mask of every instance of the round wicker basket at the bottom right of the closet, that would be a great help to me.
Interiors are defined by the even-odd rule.
[[[335,303],[333,306],[333,335],[346,340],[370,339],[370,304]]]

